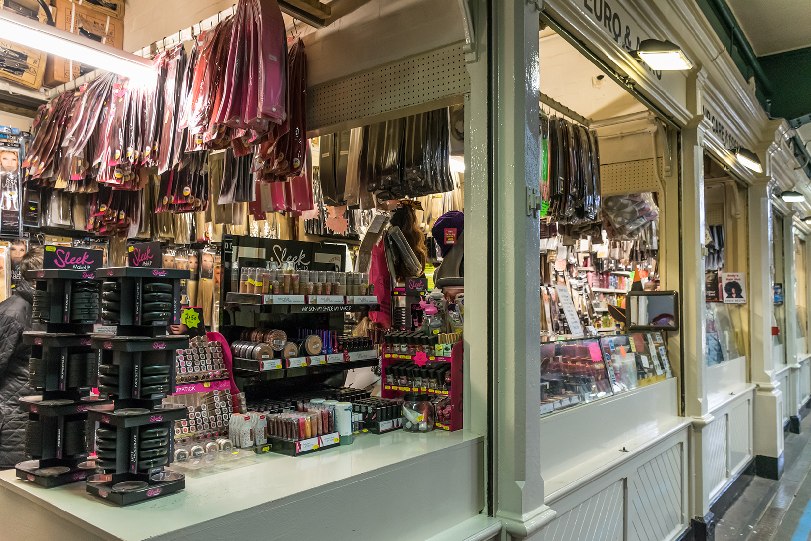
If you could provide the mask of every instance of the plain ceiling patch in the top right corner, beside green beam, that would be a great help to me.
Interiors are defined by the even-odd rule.
[[[811,1],[727,0],[757,56],[811,46]]]

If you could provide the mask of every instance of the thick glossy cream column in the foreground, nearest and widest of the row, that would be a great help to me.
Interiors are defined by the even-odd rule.
[[[493,227],[490,340],[495,356],[495,505],[505,539],[526,539],[555,512],[540,474],[539,2],[491,6],[489,144]],[[534,190],[534,191],[533,191]]]

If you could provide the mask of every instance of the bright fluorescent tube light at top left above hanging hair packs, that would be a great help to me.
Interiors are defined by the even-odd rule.
[[[152,74],[152,61],[148,58],[125,53],[11,11],[0,10],[0,36],[20,45],[58,54],[125,77],[141,79]]]

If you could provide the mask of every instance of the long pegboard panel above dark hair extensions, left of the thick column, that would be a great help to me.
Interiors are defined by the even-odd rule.
[[[307,133],[364,126],[380,122],[375,116],[445,101],[439,108],[448,105],[448,98],[466,92],[470,74],[462,43],[446,45],[307,88]]]

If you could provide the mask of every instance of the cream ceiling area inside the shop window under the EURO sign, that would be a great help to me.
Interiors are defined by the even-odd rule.
[[[574,112],[596,121],[646,110],[551,28],[539,33],[539,53],[541,92]]]

